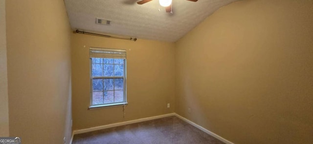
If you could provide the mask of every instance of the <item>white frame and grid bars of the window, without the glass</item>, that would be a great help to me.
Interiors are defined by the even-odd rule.
[[[127,105],[127,59],[125,57],[124,60],[124,76],[112,76],[112,77],[108,77],[108,76],[101,76],[101,77],[92,77],[92,58],[96,58],[96,57],[91,57],[90,56],[90,50],[97,50],[97,51],[107,51],[107,52],[124,52],[126,54],[126,50],[124,49],[111,49],[111,48],[97,48],[97,47],[90,47],[89,49],[89,79],[90,79],[90,95],[89,95],[89,108],[88,109],[99,109],[99,108],[106,108],[106,107],[116,107],[116,106],[124,106],[124,105]],[[121,59],[121,58],[109,58],[109,57],[101,57],[102,59],[105,58],[105,59]],[[114,63],[113,63],[114,64]],[[114,68],[113,68],[114,70]],[[118,103],[102,103],[102,104],[92,104],[92,87],[93,87],[93,82],[92,80],[95,80],[95,79],[123,79],[123,102],[118,102]],[[113,86],[115,87],[115,85],[113,84]],[[103,89],[104,91],[104,89]],[[113,90],[115,91],[115,90]],[[103,96],[104,97],[104,96]]]

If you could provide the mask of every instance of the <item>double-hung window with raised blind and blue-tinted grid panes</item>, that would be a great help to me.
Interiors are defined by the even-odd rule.
[[[126,51],[90,48],[90,106],[126,104]]]

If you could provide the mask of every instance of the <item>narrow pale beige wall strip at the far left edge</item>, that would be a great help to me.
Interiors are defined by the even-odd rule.
[[[8,79],[6,66],[5,0],[0,0],[0,137],[9,136]]]

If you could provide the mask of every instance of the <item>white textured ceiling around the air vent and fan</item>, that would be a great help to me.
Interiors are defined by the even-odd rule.
[[[173,0],[173,14],[158,0],[65,0],[72,29],[158,41],[177,41],[220,7],[237,0]],[[96,18],[111,25],[96,24]]]

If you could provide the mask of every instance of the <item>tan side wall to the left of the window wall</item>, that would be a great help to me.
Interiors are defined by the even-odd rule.
[[[6,0],[10,136],[67,144],[70,28],[63,0]]]

